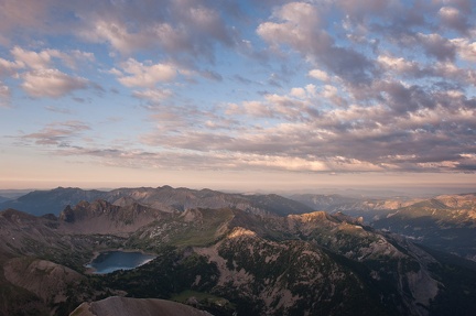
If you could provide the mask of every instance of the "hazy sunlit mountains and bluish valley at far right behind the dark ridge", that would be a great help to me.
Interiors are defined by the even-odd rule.
[[[375,228],[476,261],[476,194],[433,198],[351,198],[294,195],[291,198],[331,214],[342,211]]]

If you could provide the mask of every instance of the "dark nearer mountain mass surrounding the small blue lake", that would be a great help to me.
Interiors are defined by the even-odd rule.
[[[218,196],[210,190],[180,189],[187,195],[184,199],[177,198],[175,189],[165,188],[162,194],[166,190],[171,193],[164,199],[167,204],[203,203],[197,196],[216,201]],[[130,192],[137,195],[141,190]],[[475,266],[340,213],[282,216],[244,207],[261,205],[263,209],[262,205],[270,205],[268,198],[279,200],[272,195],[252,203],[242,199],[244,204],[235,207],[174,211],[138,204],[138,198],[115,196],[120,205],[82,201],[66,207],[57,218],[1,211],[0,261],[9,277],[0,280],[0,288],[23,288],[23,297],[43,302],[42,310],[57,308],[62,313],[72,312],[77,301],[54,305],[61,297],[53,293],[64,293],[62,288],[71,288],[67,284],[75,280],[80,280],[83,287],[73,286],[79,292],[68,297],[96,301],[98,293],[164,299],[180,296],[181,302],[214,315],[426,316],[451,315],[445,306],[452,304],[457,304],[461,315],[476,308]],[[229,203],[229,196],[224,194],[224,198]],[[472,209],[468,201],[451,200]],[[447,208],[440,199],[416,206]],[[284,208],[289,209],[285,200]],[[156,258],[137,269],[101,276],[82,273],[93,251],[118,248],[152,252]],[[77,272],[78,279],[65,277],[77,276]],[[50,284],[48,279],[42,279],[48,275],[58,275],[58,284],[57,291],[51,287],[52,294],[46,295],[51,301],[45,303],[46,296],[37,290],[42,282],[36,281]]]

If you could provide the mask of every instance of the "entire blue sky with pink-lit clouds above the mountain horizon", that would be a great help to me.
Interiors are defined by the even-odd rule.
[[[0,188],[476,190],[473,0],[0,0]]]

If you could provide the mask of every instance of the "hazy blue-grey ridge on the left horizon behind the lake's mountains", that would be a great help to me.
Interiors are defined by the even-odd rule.
[[[32,215],[58,215],[66,206],[79,201],[104,199],[115,205],[139,203],[161,210],[174,211],[196,207],[231,207],[256,214],[272,213],[278,215],[302,214],[312,211],[299,201],[279,195],[225,194],[212,189],[194,190],[188,188],[118,188],[110,192],[84,190],[73,187],[58,187],[52,190],[34,190],[15,199],[0,204],[0,209],[14,208]]]

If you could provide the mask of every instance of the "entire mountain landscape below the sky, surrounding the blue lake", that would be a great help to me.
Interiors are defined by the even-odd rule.
[[[476,310],[476,262],[462,258],[474,259],[475,195],[293,198],[300,201],[164,186],[56,188],[7,201],[35,211],[64,207],[42,216],[0,211],[0,315],[68,315],[83,302],[125,295],[213,315]],[[358,210],[382,216],[369,226]],[[87,274],[94,252],[107,249],[158,257],[134,270]],[[159,304],[113,299],[137,310]],[[83,306],[112,308],[100,302]]]

